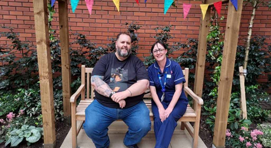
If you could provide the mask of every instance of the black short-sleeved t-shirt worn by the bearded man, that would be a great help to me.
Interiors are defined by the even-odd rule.
[[[138,80],[149,80],[149,76],[143,62],[134,55],[130,55],[124,61],[118,60],[114,53],[104,55],[95,65],[92,76],[104,76],[104,82],[115,91],[125,91]],[[144,93],[125,99],[124,108],[129,108],[143,99]],[[104,106],[120,108],[120,105],[112,99],[105,97],[95,91],[95,99]]]

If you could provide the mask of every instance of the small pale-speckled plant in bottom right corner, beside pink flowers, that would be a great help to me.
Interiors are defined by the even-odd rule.
[[[271,126],[269,124],[267,126],[261,124],[257,126],[257,129],[263,132],[263,134],[259,137],[263,143],[263,146],[271,147]]]

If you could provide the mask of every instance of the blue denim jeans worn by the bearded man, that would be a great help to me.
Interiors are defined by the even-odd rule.
[[[126,146],[139,143],[151,130],[150,111],[144,101],[127,109],[117,109],[105,107],[94,100],[86,108],[85,114],[86,119],[83,128],[97,148],[109,146],[108,126],[115,120],[121,119],[128,126],[128,131],[123,140]]]

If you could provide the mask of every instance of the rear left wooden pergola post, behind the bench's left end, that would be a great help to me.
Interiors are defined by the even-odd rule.
[[[69,48],[69,24],[68,24],[68,2],[59,1],[59,28],[61,47],[61,69],[62,69],[62,90],[64,116],[71,120],[71,74],[70,74],[70,48]]]

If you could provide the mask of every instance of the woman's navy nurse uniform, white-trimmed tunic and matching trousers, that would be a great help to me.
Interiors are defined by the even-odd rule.
[[[162,102],[162,105],[164,106],[165,109],[169,106],[172,100],[173,94],[175,93],[175,85],[180,84],[180,83],[185,83],[185,78],[183,76],[182,69],[180,65],[176,63],[175,61],[167,59],[163,73],[160,70],[160,67],[157,62],[152,64],[148,68],[150,86],[155,86],[156,93],[160,101],[161,101],[163,92],[162,92],[162,86],[158,78],[157,70],[160,73],[161,81],[162,81],[162,84],[164,85],[166,68],[167,68],[167,78],[166,78],[166,85],[165,85],[166,91],[165,91],[164,100]],[[182,93],[175,107],[173,108],[169,117],[166,120],[164,120],[162,123],[159,117],[159,111],[156,106],[156,103],[153,100],[151,100],[151,108],[152,108],[153,116],[154,116],[153,117],[154,133],[155,133],[155,138],[156,138],[155,148],[168,148],[174,129],[177,126],[177,121],[185,113],[187,104],[188,104],[188,99],[185,96],[184,90],[182,88]]]

